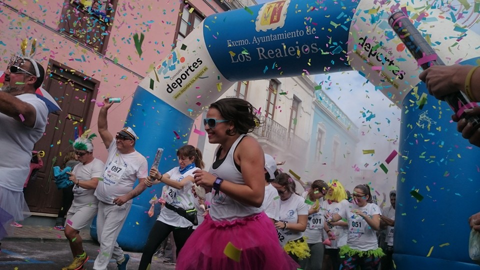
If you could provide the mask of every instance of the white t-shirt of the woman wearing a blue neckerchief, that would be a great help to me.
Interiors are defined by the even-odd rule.
[[[178,168],[179,167],[174,167],[169,171],[165,172],[165,174],[170,175],[169,178],[171,180],[179,182],[187,176],[193,177],[193,171],[195,171],[196,169],[199,169],[197,167],[193,167],[185,171],[185,173],[181,174]],[[165,201],[168,202],[168,204],[171,204],[175,207],[183,208],[185,210],[193,209],[194,199],[196,198],[193,197],[193,194],[191,192],[192,185],[193,185],[193,182],[188,181],[181,189],[176,189],[171,186],[167,186],[167,189],[165,191]],[[166,207],[163,207],[161,209],[157,220],[171,226],[182,227],[182,228],[193,225],[190,221],[186,220],[186,218],[180,216],[175,211],[170,210]]]

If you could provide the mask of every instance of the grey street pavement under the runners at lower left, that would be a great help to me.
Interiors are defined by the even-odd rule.
[[[93,269],[93,261],[98,254],[97,243],[84,243],[86,253],[89,256],[84,269]],[[138,269],[141,253],[128,252],[131,259],[128,269]],[[72,254],[67,241],[16,241],[6,240],[1,242],[0,269],[3,270],[60,270],[71,263]],[[116,262],[110,260],[108,270],[117,269]],[[163,263],[163,257],[153,256],[150,269],[173,270],[174,265]]]

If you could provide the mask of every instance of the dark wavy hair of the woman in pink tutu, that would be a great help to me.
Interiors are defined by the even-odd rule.
[[[233,122],[233,129],[226,132],[229,136],[236,133],[246,134],[260,124],[260,119],[255,115],[253,106],[241,98],[218,99],[211,103],[210,108],[216,108],[225,120]]]

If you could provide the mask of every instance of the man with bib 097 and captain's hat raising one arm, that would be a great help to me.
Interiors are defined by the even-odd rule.
[[[123,254],[116,238],[130,211],[131,199],[146,189],[144,180],[148,176],[146,158],[135,150],[137,136],[133,129],[124,127],[113,141],[106,119],[112,104],[105,98],[98,114],[98,133],[108,149],[108,157],[95,190],[99,200],[96,228],[100,242],[100,252],[93,264],[95,270],[105,270],[110,258],[116,260],[118,269],[126,269],[130,255]],[[133,188],[137,178],[139,182]]]

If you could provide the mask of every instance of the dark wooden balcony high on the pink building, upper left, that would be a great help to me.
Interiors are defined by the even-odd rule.
[[[104,13],[92,12],[77,1],[69,1],[63,8],[58,30],[103,54],[111,20]]]

